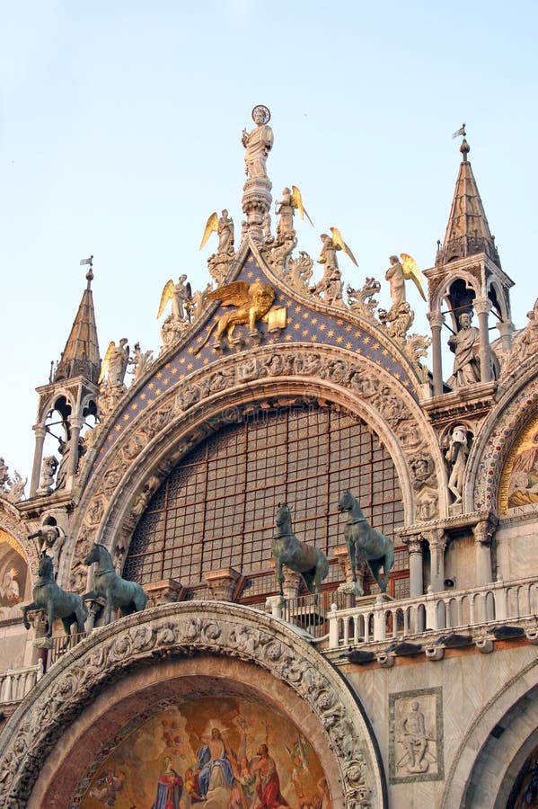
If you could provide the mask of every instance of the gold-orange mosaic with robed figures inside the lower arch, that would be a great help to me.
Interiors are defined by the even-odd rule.
[[[93,762],[83,809],[331,807],[310,742],[251,698],[181,698],[122,735],[108,759]]]

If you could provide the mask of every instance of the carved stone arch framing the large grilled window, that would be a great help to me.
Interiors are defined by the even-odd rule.
[[[227,356],[192,374],[131,424],[95,470],[81,502],[72,566],[84,558],[92,541],[110,548],[120,525],[129,541],[140,502],[146,495],[147,502],[182,455],[220,423],[234,420],[247,406],[300,396],[340,405],[372,425],[392,457],[406,522],[412,523],[410,462],[420,451],[431,459],[437,477],[445,471],[431,427],[410,392],[349,351],[311,343],[280,346],[278,351],[267,347]],[[445,508],[445,503],[439,506]]]

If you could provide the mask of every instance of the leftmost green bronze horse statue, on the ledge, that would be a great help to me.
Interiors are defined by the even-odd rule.
[[[27,613],[31,609],[43,609],[47,614],[47,637],[52,636],[52,624],[55,618],[61,618],[66,636],[71,636],[71,627],[76,624],[79,633],[84,632],[84,623],[88,618],[88,608],[75,592],[66,592],[54,581],[54,566],[47,554],[41,554],[38,568],[39,578],[33,588],[33,601],[22,607],[24,626],[30,629]]]

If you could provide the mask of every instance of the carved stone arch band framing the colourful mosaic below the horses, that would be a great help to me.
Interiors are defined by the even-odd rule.
[[[322,726],[340,772],[341,805],[383,805],[382,780],[355,698],[331,664],[292,629],[234,605],[168,604],[129,616],[77,645],[40,680],[0,742],[0,805],[22,809],[43,761],[81,710],[126,670],[160,657],[205,653],[269,671],[304,700]],[[223,666],[225,672],[225,666]],[[306,709],[306,707],[305,707]],[[334,788],[334,785],[333,785]],[[338,787],[337,787],[338,788]]]

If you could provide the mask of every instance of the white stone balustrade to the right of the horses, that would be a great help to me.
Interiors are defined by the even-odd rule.
[[[401,641],[428,632],[514,624],[536,614],[538,576],[398,601],[386,600],[383,595],[365,597],[348,609],[332,606],[327,616],[329,650]]]

